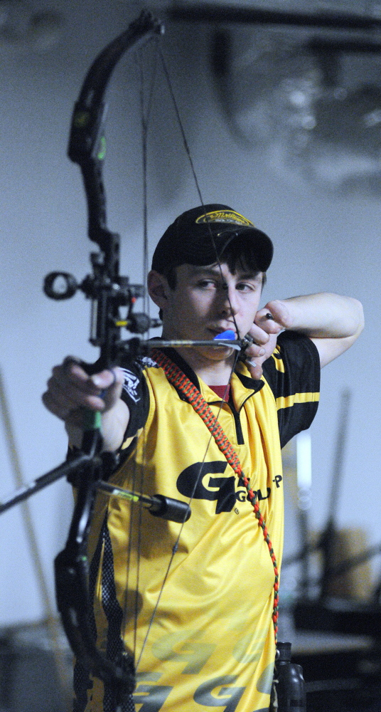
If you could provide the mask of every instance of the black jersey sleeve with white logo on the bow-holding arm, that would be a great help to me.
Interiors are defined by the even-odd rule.
[[[129,409],[129,424],[124,434],[124,440],[132,437],[144,427],[149,414],[149,389],[144,378],[141,365],[134,362],[122,362],[120,368],[124,372],[122,400]]]

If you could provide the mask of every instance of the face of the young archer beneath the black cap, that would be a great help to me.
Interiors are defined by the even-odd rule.
[[[252,327],[262,291],[262,273],[237,270],[227,264],[176,269],[177,283],[163,308],[163,336],[213,340],[230,329],[242,338]],[[210,350],[208,350],[210,351]],[[230,350],[231,351],[231,350]],[[213,349],[213,358],[223,350]]]

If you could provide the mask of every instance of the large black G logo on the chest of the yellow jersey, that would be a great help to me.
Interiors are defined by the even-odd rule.
[[[235,477],[223,476],[226,468],[227,463],[221,461],[195,462],[178,476],[178,491],[193,499],[217,500],[216,514],[231,512],[236,501]]]

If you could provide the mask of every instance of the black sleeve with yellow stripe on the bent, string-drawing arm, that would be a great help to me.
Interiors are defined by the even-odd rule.
[[[320,359],[308,337],[284,331],[263,372],[277,402],[281,447],[311,425],[318,409]]]

